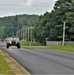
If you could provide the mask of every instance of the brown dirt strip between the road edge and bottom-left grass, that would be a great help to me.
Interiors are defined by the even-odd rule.
[[[16,60],[10,57],[7,53],[0,50],[2,56],[4,56],[5,61],[9,64],[8,66],[14,71],[15,75],[31,75],[24,67],[22,67]]]

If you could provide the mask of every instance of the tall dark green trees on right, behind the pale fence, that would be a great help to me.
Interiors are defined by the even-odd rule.
[[[58,0],[51,12],[39,17],[34,30],[36,41],[62,41],[64,22],[65,41],[74,41],[74,0]]]

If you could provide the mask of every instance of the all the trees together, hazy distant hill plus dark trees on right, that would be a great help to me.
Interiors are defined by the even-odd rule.
[[[51,12],[44,15],[16,15],[0,18],[0,37],[15,36],[16,31],[26,27],[34,27],[33,37],[37,42],[63,40],[74,41],[74,0],[58,0]]]

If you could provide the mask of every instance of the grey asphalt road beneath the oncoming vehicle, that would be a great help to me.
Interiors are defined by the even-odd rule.
[[[6,49],[2,42],[0,42],[0,47],[32,75],[74,75],[74,53],[55,50],[17,49],[16,47]]]

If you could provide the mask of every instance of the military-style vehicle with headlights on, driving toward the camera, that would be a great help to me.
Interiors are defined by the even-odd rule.
[[[6,47],[9,48],[9,46],[17,46],[17,48],[20,48],[20,40],[17,37],[8,37],[6,38]]]

